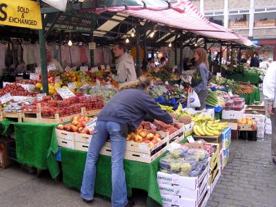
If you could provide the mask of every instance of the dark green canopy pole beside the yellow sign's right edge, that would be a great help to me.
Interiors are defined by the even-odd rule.
[[[40,1],[41,3],[41,1]],[[39,51],[40,51],[40,59],[41,59],[41,78],[42,78],[42,87],[43,93],[49,94],[48,89],[48,70],[47,70],[47,62],[46,62],[46,46],[44,39],[44,15],[41,15],[42,21],[42,29],[39,30]]]

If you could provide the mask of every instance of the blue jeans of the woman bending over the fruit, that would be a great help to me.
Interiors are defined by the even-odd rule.
[[[91,200],[94,198],[96,164],[99,151],[110,135],[111,165],[112,165],[112,195],[113,207],[126,206],[128,203],[126,191],[126,175],[124,172],[124,154],[126,151],[126,135],[121,134],[121,124],[98,121],[95,127],[86,156],[86,168],[83,172],[81,197]]]

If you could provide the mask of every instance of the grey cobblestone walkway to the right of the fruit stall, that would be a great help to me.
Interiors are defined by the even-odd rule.
[[[276,165],[270,154],[271,137],[233,140],[233,159],[226,165],[207,206],[276,206]]]

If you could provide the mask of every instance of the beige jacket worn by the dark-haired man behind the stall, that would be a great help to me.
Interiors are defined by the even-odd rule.
[[[124,53],[117,59],[116,62],[117,75],[113,75],[119,85],[124,82],[130,82],[137,80],[136,71],[132,56],[128,53]]]

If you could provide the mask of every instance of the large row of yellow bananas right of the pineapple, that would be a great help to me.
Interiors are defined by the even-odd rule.
[[[219,136],[221,131],[227,127],[228,123],[219,123],[220,120],[197,123],[193,130],[197,136]]]

